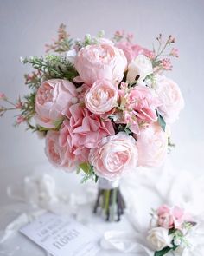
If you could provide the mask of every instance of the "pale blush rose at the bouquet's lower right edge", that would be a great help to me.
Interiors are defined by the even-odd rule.
[[[159,124],[152,123],[137,135],[138,165],[159,167],[166,158],[169,131],[164,132]]]

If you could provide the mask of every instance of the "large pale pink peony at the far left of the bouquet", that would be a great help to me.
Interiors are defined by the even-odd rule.
[[[41,84],[35,96],[35,120],[45,128],[55,128],[54,122],[62,118],[61,112],[72,104],[76,97],[72,82],[51,79]]]

